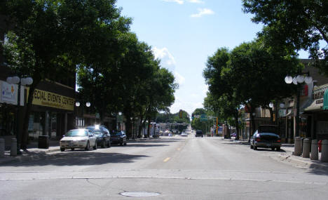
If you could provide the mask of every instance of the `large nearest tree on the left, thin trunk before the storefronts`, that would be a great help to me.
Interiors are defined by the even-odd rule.
[[[29,98],[22,131],[22,148],[27,147],[27,127],[34,89],[40,81],[58,81],[75,76],[76,65],[88,64],[97,49],[94,34],[100,27],[116,32],[128,28],[114,0],[5,0],[0,14],[8,17],[11,32],[4,52],[17,74],[31,76]],[[69,76],[64,76],[68,74]]]

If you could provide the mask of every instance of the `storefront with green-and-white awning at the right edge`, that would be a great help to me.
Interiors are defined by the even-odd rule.
[[[328,84],[318,86],[313,90],[313,102],[304,109],[310,116],[308,124],[311,138],[328,140]]]

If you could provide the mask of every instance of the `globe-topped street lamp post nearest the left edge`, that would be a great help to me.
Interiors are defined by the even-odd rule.
[[[17,139],[17,154],[22,154],[20,152],[20,134],[19,134],[19,121],[18,118],[20,116],[20,86],[28,86],[33,83],[33,79],[31,77],[22,78],[19,76],[13,76],[7,78],[8,84],[18,84],[18,93],[17,93],[17,112],[16,112],[16,139]]]

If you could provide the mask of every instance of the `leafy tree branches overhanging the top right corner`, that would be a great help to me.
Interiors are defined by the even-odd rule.
[[[243,0],[245,13],[253,22],[264,23],[260,36],[273,48],[304,49],[322,72],[328,75],[328,1],[326,0]],[[320,49],[320,41],[325,45]],[[322,59],[322,60],[320,60]]]

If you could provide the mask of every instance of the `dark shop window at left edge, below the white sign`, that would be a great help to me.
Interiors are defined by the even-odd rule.
[[[15,135],[15,113],[12,105],[0,104],[0,136]]]

